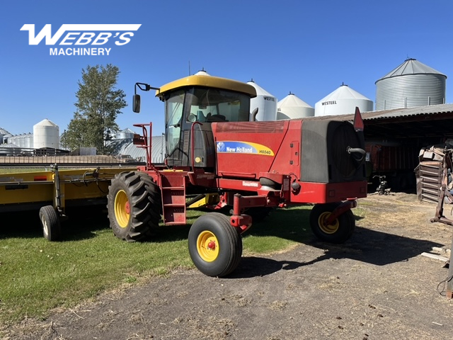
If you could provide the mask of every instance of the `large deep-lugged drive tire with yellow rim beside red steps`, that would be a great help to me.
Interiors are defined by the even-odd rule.
[[[143,239],[150,227],[159,224],[155,211],[151,213],[145,181],[134,171],[115,175],[108,188],[107,209],[113,234],[128,242]]]

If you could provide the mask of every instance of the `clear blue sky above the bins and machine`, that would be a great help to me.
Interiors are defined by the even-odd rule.
[[[81,70],[109,63],[129,104],[117,124],[152,121],[153,135],[164,132],[164,106],[154,91],[142,93],[142,112],[132,113],[135,82],[159,87],[202,68],[314,107],[343,82],[375,101],[374,82],[411,57],[447,75],[452,103],[452,13],[449,0],[1,1],[0,127],[28,133],[47,118],[62,133]],[[108,56],[52,56],[50,47],[75,46],[28,45],[24,24],[35,34],[51,24],[52,35],[63,24],[142,26],[126,45],[99,46]]]

